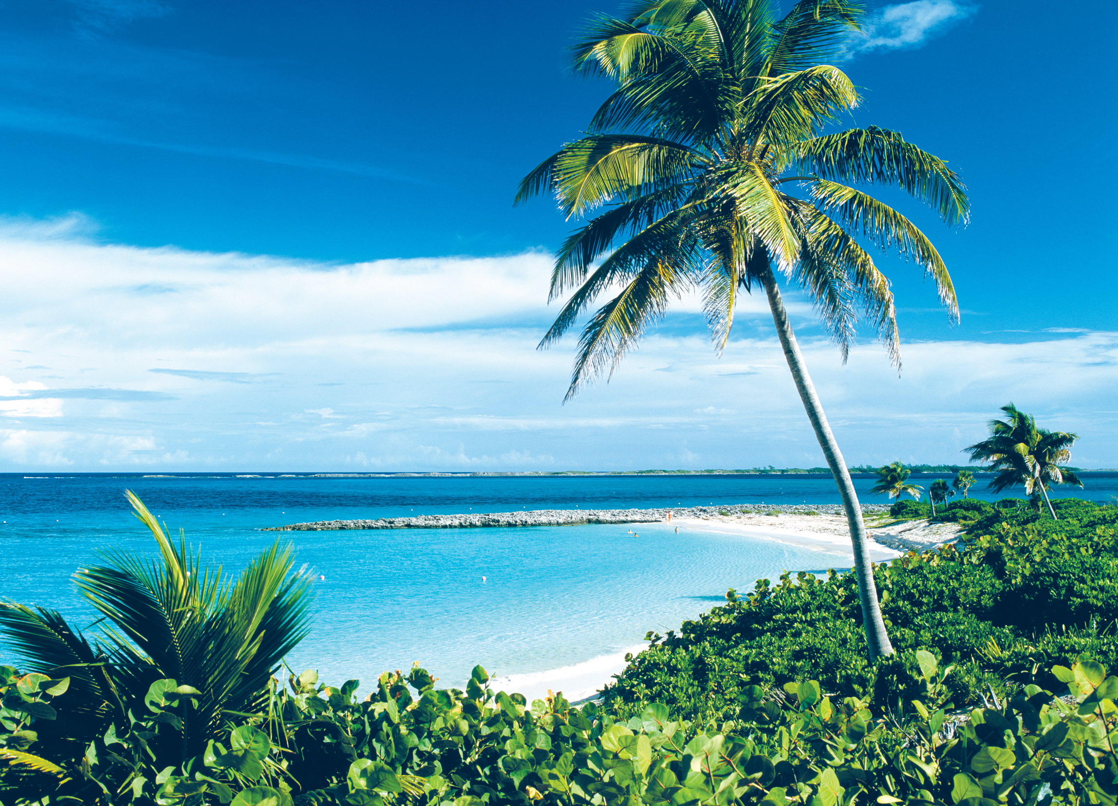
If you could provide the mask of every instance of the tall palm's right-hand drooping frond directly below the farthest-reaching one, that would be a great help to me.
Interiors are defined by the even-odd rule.
[[[925,273],[935,281],[948,315],[958,320],[959,302],[951,275],[931,241],[912,222],[889,205],[846,185],[821,179],[812,182],[811,193],[823,209],[846,226],[860,231],[882,249],[892,247],[923,266]]]

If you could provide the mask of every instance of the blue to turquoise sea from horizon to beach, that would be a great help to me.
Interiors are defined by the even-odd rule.
[[[935,477],[915,479],[925,486]],[[1118,496],[1118,474],[1072,495]],[[871,478],[855,484],[863,502]],[[987,497],[980,489],[973,497]],[[540,675],[616,655],[781,569],[824,571],[847,559],[770,540],[661,525],[263,532],[333,518],[546,508],[837,503],[830,478],[797,476],[390,477],[0,475],[0,598],[93,621],[70,575],[97,552],[154,543],[124,490],[136,493],[205,556],[238,571],[275,540],[315,575],[313,630],[290,658],[339,684],[371,685],[419,662],[461,685],[474,664]],[[638,538],[628,532],[639,533]],[[319,575],[324,580],[319,581]],[[482,581],[482,578],[485,581]],[[0,663],[13,660],[0,643]],[[546,675],[544,675],[546,676]],[[362,686],[367,687],[367,686]]]

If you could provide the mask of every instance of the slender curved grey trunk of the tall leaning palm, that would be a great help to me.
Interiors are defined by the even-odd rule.
[[[804,366],[804,357],[799,353],[799,345],[796,343],[796,334],[788,322],[788,313],[784,309],[784,301],[780,298],[780,289],[777,288],[776,278],[773,271],[766,269],[761,274],[761,283],[768,294],[769,308],[773,311],[773,321],[776,324],[777,335],[780,337],[780,346],[784,348],[784,357],[792,369],[792,377],[796,382],[796,391],[807,410],[807,418],[815,429],[815,438],[819,441],[823,454],[827,459],[827,466],[834,475],[835,484],[839,486],[839,495],[842,496],[843,508],[846,510],[846,523],[850,525],[850,542],[854,549],[854,573],[858,577],[858,597],[862,603],[862,625],[865,628],[865,641],[870,647],[870,657],[875,658],[881,655],[892,655],[893,647],[889,643],[889,634],[885,632],[885,625],[881,620],[881,608],[878,606],[878,588],[873,582],[873,564],[866,552],[865,524],[862,522],[862,505],[859,504],[858,494],[854,491],[854,482],[850,478],[850,470],[846,469],[846,461],[839,450],[839,443],[831,433],[831,425],[827,424],[827,416],[823,412],[818,395],[815,394],[815,386]]]

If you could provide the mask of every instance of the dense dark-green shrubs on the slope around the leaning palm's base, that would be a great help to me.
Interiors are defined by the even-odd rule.
[[[607,690],[607,707],[631,715],[663,702],[689,719],[724,720],[750,685],[809,677],[842,695],[903,701],[919,648],[955,665],[947,685],[958,705],[1051,684],[1043,669],[1083,652],[1118,663],[1118,507],[1064,499],[1053,521],[1021,504],[955,502],[939,519],[964,524],[964,543],[875,568],[893,658],[866,660],[851,573],[785,573],[746,597],[731,591],[679,632],[650,634]],[[916,507],[927,516],[913,500],[893,509]]]

